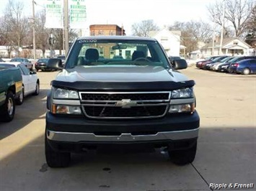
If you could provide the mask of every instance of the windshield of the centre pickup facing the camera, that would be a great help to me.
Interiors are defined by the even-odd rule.
[[[66,68],[76,66],[151,65],[170,67],[155,41],[127,39],[81,39],[72,47]]]

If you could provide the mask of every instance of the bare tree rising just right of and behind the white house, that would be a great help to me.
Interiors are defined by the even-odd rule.
[[[206,22],[175,22],[169,26],[169,30],[181,32],[181,44],[187,48],[187,52],[198,49],[198,42],[207,42],[212,38],[212,29]]]

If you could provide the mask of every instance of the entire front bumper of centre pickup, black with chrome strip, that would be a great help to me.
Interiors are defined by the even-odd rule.
[[[192,115],[172,115],[156,119],[92,120],[46,114],[46,141],[61,152],[81,152],[104,145],[140,144],[154,147],[188,147],[198,138],[200,119]]]

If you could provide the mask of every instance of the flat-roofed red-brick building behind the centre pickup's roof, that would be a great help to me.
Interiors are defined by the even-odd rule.
[[[125,35],[125,29],[116,24],[92,24],[89,26],[90,36],[109,36],[109,35]]]

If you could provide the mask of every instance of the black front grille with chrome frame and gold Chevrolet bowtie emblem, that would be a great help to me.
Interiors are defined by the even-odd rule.
[[[79,93],[85,116],[89,118],[157,118],[169,106],[169,92]]]

